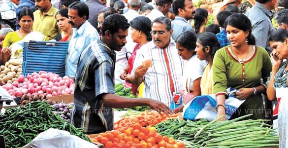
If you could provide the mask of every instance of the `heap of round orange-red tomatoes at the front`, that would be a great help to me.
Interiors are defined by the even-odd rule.
[[[100,133],[92,141],[105,145],[105,148],[184,148],[183,142],[161,136],[155,127],[142,127],[139,123],[124,132],[112,130]]]

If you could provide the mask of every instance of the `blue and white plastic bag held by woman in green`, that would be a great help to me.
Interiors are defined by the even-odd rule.
[[[228,99],[225,99],[226,119],[229,119],[244,101],[245,100],[239,100],[231,96],[229,96]],[[189,120],[204,118],[212,121],[217,117],[216,106],[217,103],[215,95],[197,96],[185,105],[183,109],[183,117],[184,119]]]

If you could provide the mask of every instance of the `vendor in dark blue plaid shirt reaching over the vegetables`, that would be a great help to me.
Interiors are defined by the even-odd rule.
[[[102,24],[101,38],[89,44],[80,56],[71,123],[83,128],[87,134],[113,130],[113,108],[149,106],[153,110],[169,111],[167,106],[153,99],[129,99],[115,95],[115,50],[120,51],[126,44],[128,28],[124,16],[108,16]]]

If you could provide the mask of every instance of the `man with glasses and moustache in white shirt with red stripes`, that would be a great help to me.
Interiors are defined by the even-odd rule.
[[[153,41],[144,44],[135,57],[132,83],[145,84],[143,97],[155,98],[170,106],[173,93],[182,90],[181,77],[185,67],[184,60],[178,56],[172,35],[169,18],[159,17],[152,22]],[[142,63],[152,60],[152,67]]]

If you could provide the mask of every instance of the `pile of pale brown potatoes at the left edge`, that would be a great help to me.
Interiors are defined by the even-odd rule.
[[[22,62],[10,59],[5,65],[0,66],[0,81],[3,83],[13,83],[22,74]]]

